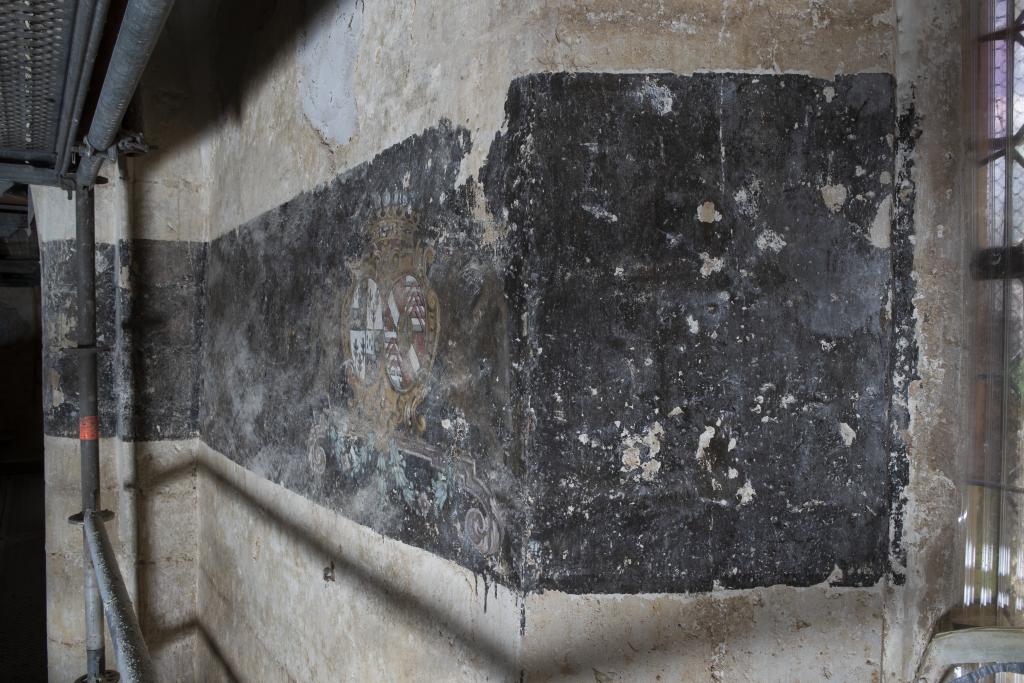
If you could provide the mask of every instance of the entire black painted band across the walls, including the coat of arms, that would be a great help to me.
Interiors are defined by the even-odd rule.
[[[208,249],[101,250],[102,374],[144,397],[103,396],[104,422],[199,429],[526,590],[874,583],[893,99],[883,75],[519,79],[482,195],[442,124]],[[44,249],[51,318],[70,263]],[[70,432],[69,342],[47,344]]]

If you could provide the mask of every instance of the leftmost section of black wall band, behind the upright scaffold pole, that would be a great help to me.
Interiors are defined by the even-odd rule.
[[[46,433],[78,434],[75,242],[43,243]],[[126,440],[198,433],[206,244],[154,240],[96,247],[99,426]]]

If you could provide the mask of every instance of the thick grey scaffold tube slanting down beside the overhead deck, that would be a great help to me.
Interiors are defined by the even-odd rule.
[[[92,150],[102,153],[117,141],[125,112],[173,5],[174,0],[129,0],[99,91],[96,112],[85,136],[86,145]],[[100,154],[83,157],[78,167],[80,185],[89,186],[95,182],[103,159]]]

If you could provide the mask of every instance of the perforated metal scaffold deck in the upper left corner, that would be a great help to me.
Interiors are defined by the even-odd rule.
[[[63,88],[65,0],[0,0],[0,151],[50,154]]]

